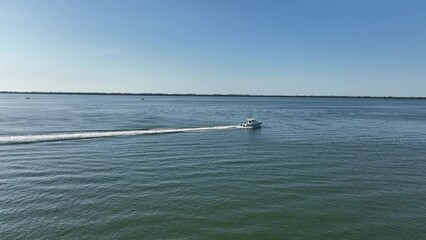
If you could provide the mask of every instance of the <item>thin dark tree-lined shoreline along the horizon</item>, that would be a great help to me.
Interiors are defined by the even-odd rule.
[[[115,95],[115,96],[199,96],[199,97],[288,97],[288,98],[374,98],[374,99],[426,99],[426,97],[394,96],[338,96],[338,95],[260,95],[260,94],[196,94],[196,93],[115,93],[115,92],[20,92],[0,91],[0,94],[52,94],[52,95]]]

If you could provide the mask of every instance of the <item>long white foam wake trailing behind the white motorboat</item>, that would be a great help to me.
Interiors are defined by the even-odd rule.
[[[85,138],[136,136],[136,135],[162,134],[162,133],[212,131],[212,130],[225,130],[225,129],[231,129],[231,128],[237,128],[237,126],[230,125],[230,126],[215,126],[215,127],[200,127],[200,128],[94,131],[94,132],[70,132],[70,133],[49,133],[49,134],[37,134],[37,135],[0,136],[0,144],[63,141],[63,140],[85,139]]]

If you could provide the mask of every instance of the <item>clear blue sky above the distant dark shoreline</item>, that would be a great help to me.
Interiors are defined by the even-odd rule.
[[[0,90],[426,96],[426,1],[0,0]]]

